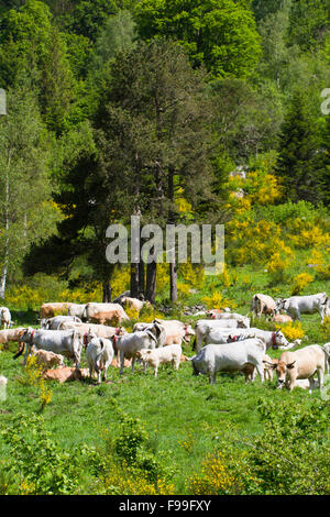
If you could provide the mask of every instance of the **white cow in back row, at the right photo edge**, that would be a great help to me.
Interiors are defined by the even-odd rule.
[[[328,299],[327,293],[280,298],[276,301],[276,310],[285,310],[294,320],[298,319],[299,321],[301,320],[301,315],[319,312],[321,321],[323,321]]]

